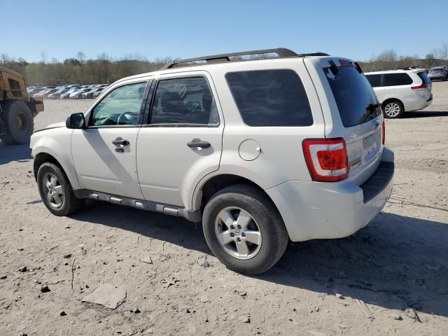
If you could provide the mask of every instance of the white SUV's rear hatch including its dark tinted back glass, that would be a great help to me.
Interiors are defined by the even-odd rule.
[[[381,160],[384,119],[378,99],[358,64],[350,59],[310,57],[305,64],[321,100],[325,138],[344,139],[348,179],[360,186]]]

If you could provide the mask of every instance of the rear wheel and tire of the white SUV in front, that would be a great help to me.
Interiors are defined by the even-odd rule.
[[[251,218],[248,219],[248,216]],[[223,218],[228,218],[228,221],[223,221]],[[242,220],[239,221],[239,218]],[[244,221],[245,218],[248,221]],[[248,224],[238,228],[238,223]],[[289,240],[283,220],[272,201],[257,188],[245,184],[229,186],[211,197],[204,209],[202,228],[216,258],[229,269],[242,274],[266,272],[279,261]],[[245,251],[242,248],[244,245],[247,253],[242,253]],[[240,248],[237,249],[237,246]]]

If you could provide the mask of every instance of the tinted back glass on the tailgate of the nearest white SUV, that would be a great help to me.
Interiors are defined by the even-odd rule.
[[[377,96],[363,73],[354,66],[338,66],[336,74],[329,67],[323,68],[335,96],[337,109],[344,127],[365,123],[379,116]]]

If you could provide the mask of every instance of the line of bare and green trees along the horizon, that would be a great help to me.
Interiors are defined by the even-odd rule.
[[[171,57],[149,61],[140,55],[128,55],[122,59],[112,59],[105,52],[96,59],[87,59],[83,52],[74,57],[59,62],[57,59],[48,61],[45,52],[41,53],[40,62],[27,62],[21,57],[0,55],[0,66],[12,69],[25,76],[27,85],[63,85],[63,84],[110,84],[114,81],[138,73],[146,73],[160,69]],[[395,69],[405,66],[432,68],[433,66],[448,66],[448,44],[441,48],[433,48],[426,57],[418,55],[402,56],[395,50],[384,50],[379,55],[370,57],[368,61],[359,62],[363,71]]]

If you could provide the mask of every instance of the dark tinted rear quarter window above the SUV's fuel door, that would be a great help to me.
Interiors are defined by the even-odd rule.
[[[308,97],[295,71],[239,71],[225,78],[246,125],[313,125]]]

